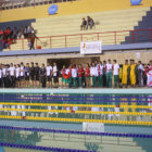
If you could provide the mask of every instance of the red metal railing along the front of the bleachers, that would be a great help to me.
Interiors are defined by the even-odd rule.
[[[136,29],[122,31],[89,33],[75,35],[60,35],[35,38],[36,49],[79,47],[81,41],[101,40],[103,45],[152,42],[151,29]],[[28,39],[13,40],[16,43],[10,46],[10,50],[28,50]]]

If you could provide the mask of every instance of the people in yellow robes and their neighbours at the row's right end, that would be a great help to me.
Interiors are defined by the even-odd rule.
[[[128,85],[131,87],[143,87],[149,86],[149,81],[151,81],[151,77],[149,77],[149,74],[152,72],[152,61],[150,61],[148,64],[142,64],[141,61],[138,61],[138,63],[135,63],[135,60],[125,60],[125,63],[122,67],[122,85],[126,88]]]

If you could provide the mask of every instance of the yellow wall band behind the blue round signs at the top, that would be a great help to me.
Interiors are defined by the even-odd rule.
[[[58,3],[59,11],[53,16],[72,15],[90,12],[103,12],[134,8],[152,7],[152,0],[143,0],[140,5],[132,7],[130,0],[78,0],[73,2]],[[28,7],[22,9],[2,11],[0,22],[49,17],[50,5]],[[88,14],[89,15],[89,14]]]

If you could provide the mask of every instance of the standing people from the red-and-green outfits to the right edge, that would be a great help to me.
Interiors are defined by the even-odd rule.
[[[103,63],[96,61],[87,66],[71,64],[66,68],[63,65],[61,73],[63,85],[68,85],[68,87],[91,87],[92,81],[92,87],[112,88],[112,84],[114,84],[115,88],[127,88],[128,86],[143,87],[144,85],[149,87],[150,77],[147,73],[151,71],[152,61],[143,67],[141,61],[136,64],[135,60],[130,60],[130,64],[128,64],[128,60],[125,60],[125,64],[119,66],[116,60],[113,63],[109,60],[107,63],[106,61]]]

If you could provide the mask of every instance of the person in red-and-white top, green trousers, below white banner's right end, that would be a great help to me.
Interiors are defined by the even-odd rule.
[[[103,65],[102,62],[99,61],[99,64],[97,66],[98,68],[98,87],[103,87]]]

